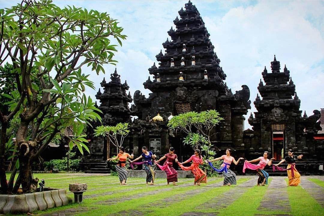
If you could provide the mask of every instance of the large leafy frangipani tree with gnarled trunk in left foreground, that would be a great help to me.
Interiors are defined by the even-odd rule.
[[[14,189],[21,183],[24,193],[32,190],[31,163],[53,138],[64,135],[67,126],[73,127],[74,133],[69,137],[70,147],[88,151],[81,134],[84,124],[101,118],[100,110],[84,94],[86,87],[94,89],[94,84],[81,68],[91,66],[98,74],[104,73],[103,64],[115,64],[117,45],[111,44],[111,39],[121,45],[126,38],[117,24],[107,13],[75,6],[59,8],[51,1],[22,1],[0,9],[0,66],[11,63],[10,75],[15,77],[14,90],[1,96],[9,99],[9,112],[0,110],[2,193],[12,190],[16,173],[13,171],[8,185],[6,130],[14,117],[20,118],[16,136],[19,176]]]

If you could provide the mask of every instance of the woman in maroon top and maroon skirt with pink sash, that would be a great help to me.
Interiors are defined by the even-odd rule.
[[[167,160],[164,162],[163,166],[160,166],[158,163],[163,159],[167,159]],[[174,148],[170,147],[169,148],[169,153],[165,154],[158,161],[156,161],[156,165],[160,169],[164,170],[165,173],[167,174],[168,185],[169,185],[170,182],[172,182],[172,184],[176,186],[177,185],[176,182],[178,182],[178,173],[172,166],[173,162],[178,163],[178,158],[177,158],[177,155],[174,153]]]

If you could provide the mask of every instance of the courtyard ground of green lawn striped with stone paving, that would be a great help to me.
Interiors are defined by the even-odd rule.
[[[9,175],[9,174],[8,174]],[[178,186],[167,186],[157,178],[145,186],[145,178],[129,178],[119,185],[118,176],[85,173],[41,173],[46,187],[66,188],[72,182],[87,183],[83,202],[32,212],[42,216],[72,215],[324,215],[324,176],[302,176],[297,187],[287,187],[286,176],[270,176],[265,187],[256,186],[257,176],[237,176],[236,186],[222,186],[222,177],[192,186],[193,178],[180,178]],[[73,198],[73,193],[68,192]],[[22,214],[26,215],[26,214]]]

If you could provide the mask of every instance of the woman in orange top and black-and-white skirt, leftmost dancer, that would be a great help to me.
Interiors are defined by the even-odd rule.
[[[115,158],[109,158],[107,161],[111,161],[111,160],[118,160],[118,163],[116,165],[116,171],[118,172],[118,176],[119,176],[119,181],[121,182],[121,185],[127,185],[126,184],[126,180],[127,180],[127,170],[125,168],[126,165],[126,160],[127,158],[131,158],[133,159],[134,155],[133,154],[128,154],[125,153],[125,149],[124,147],[120,147],[119,148],[119,154],[117,154],[117,156]]]

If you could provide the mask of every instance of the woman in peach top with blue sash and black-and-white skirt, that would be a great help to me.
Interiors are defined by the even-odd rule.
[[[229,169],[229,166],[233,162],[235,165],[240,162],[240,160],[243,160],[244,158],[240,157],[236,161],[234,157],[231,156],[231,149],[226,149],[226,154],[222,155],[221,157],[215,158],[214,160],[207,160],[208,162],[223,160],[223,164],[221,164],[221,167],[227,166],[226,170],[223,170],[222,173],[224,175],[224,185],[236,185],[236,175],[235,173]]]

